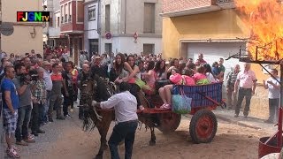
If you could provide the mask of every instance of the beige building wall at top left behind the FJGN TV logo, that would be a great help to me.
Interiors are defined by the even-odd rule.
[[[17,22],[17,11],[43,11],[42,0],[38,1],[1,1],[2,22],[10,22],[13,34],[1,34],[1,49],[10,54],[24,55],[34,49],[35,53],[43,53],[42,22]]]

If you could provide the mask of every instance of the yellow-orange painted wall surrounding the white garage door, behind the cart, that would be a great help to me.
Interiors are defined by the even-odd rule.
[[[249,37],[246,27],[237,13],[231,10],[213,11],[163,19],[163,56],[180,57],[180,40],[235,39]],[[261,66],[252,64],[259,83],[269,77]]]

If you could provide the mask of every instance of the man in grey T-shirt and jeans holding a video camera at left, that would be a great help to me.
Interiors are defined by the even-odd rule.
[[[16,77],[13,82],[19,94],[19,117],[16,129],[16,144],[27,146],[27,143],[35,142],[34,138],[28,135],[28,124],[31,117],[31,80],[27,77],[27,68],[24,64],[16,64]]]

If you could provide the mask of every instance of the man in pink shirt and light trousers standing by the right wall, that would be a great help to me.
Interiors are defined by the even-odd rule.
[[[255,95],[256,91],[256,73],[250,70],[250,64],[244,64],[245,69],[241,71],[237,75],[237,80],[234,86],[234,94],[236,94],[236,90],[239,86],[239,95],[238,95],[238,102],[235,108],[235,115],[234,117],[239,117],[241,102],[246,97],[246,106],[244,109],[244,117],[247,118],[249,115],[249,104],[252,95]]]

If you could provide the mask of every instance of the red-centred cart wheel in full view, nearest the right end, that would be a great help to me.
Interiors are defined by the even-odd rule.
[[[213,140],[218,121],[210,110],[198,110],[191,119],[189,133],[195,143],[208,143]]]

